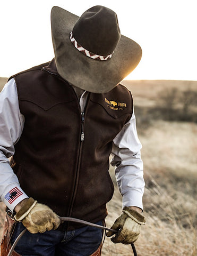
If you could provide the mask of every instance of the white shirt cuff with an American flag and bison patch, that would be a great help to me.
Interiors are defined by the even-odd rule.
[[[29,198],[18,184],[12,184],[2,196],[2,201],[12,212],[17,204],[23,199]]]

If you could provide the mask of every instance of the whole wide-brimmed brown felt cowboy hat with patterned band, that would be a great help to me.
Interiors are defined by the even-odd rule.
[[[54,6],[51,25],[57,71],[83,90],[112,90],[141,59],[141,47],[121,35],[116,13],[107,7],[93,6],[79,18]]]

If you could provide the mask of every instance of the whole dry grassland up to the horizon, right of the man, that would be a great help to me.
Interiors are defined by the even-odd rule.
[[[143,204],[147,223],[141,228],[140,237],[135,242],[138,255],[195,256],[197,106],[192,95],[196,95],[197,82],[123,83],[131,89],[134,97],[137,129],[143,146],[146,183]],[[174,97],[168,101],[172,95]],[[184,113],[186,114],[183,115]],[[122,207],[114,168],[110,167],[109,171],[114,181],[115,193],[107,206],[107,227],[121,214]],[[3,227],[3,207],[0,204],[0,229]],[[132,249],[130,245],[113,244],[106,238],[102,255],[129,256],[132,255]]]

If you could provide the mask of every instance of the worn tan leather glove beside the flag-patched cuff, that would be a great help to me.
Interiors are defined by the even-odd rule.
[[[31,197],[15,214],[14,220],[21,221],[32,234],[56,229],[60,224],[58,215],[52,209],[45,204],[39,204]]]

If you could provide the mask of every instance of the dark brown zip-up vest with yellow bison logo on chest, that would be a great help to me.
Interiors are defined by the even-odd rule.
[[[105,94],[89,93],[81,115],[75,91],[54,60],[13,77],[25,117],[13,167],[21,188],[60,216],[104,219],[114,191],[109,155],[132,116],[131,92],[118,85]]]

